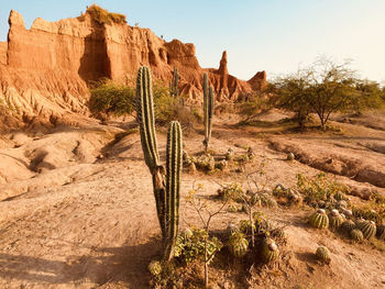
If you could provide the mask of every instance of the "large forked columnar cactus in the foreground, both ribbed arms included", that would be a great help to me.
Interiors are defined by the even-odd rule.
[[[136,113],[145,164],[153,177],[156,211],[165,243],[165,259],[170,259],[179,221],[182,130],[178,122],[169,124],[165,171],[157,153],[151,71],[145,66],[138,71]]]

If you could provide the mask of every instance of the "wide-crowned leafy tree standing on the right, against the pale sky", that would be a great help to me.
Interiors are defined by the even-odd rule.
[[[350,65],[350,60],[337,64],[321,56],[309,67],[277,78],[278,107],[295,111],[301,126],[310,112],[316,113],[322,130],[333,112],[378,108],[376,85],[359,80]]]

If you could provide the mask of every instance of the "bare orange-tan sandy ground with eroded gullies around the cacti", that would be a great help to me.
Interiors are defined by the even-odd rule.
[[[276,114],[264,121],[275,121]],[[219,154],[251,146],[256,159],[246,171],[264,160],[270,188],[278,182],[294,186],[296,174],[323,169],[358,190],[383,193],[384,179],[378,176],[385,174],[385,155],[377,148],[384,145],[385,132],[364,121],[339,122],[342,133],[297,134],[274,125],[235,127],[234,118],[222,116],[215,122],[210,147]],[[139,133],[114,140],[121,132],[117,126],[88,124],[44,135],[1,136],[0,288],[148,288],[146,267],[160,252],[151,176]],[[185,136],[190,154],[202,149],[199,133],[198,127]],[[165,143],[164,130],[158,130],[163,160]],[[285,152],[294,148],[300,162],[285,162]],[[338,164],[334,170],[314,165],[330,158]],[[341,168],[351,159],[354,174]],[[369,169],[372,173],[365,175]],[[244,184],[245,174],[183,175],[183,219],[199,225],[184,200],[194,181],[204,184],[205,194],[211,196],[218,182]],[[272,220],[288,223],[286,267],[265,278],[253,276],[251,288],[385,288],[384,253],[307,227],[304,219],[309,212],[265,211]],[[242,218],[229,212],[216,219],[212,227],[224,230],[230,220]],[[314,258],[318,245],[331,249],[330,266],[320,266]],[[232,287],[222,282],[218,288]]]

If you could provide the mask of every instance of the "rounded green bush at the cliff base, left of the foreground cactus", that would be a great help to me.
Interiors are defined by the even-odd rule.
[[[135,89],[117,85],[112,80],[102,79],[92,84],[90,89],[89,109],[92,114],[123,115],[134,111]]]

